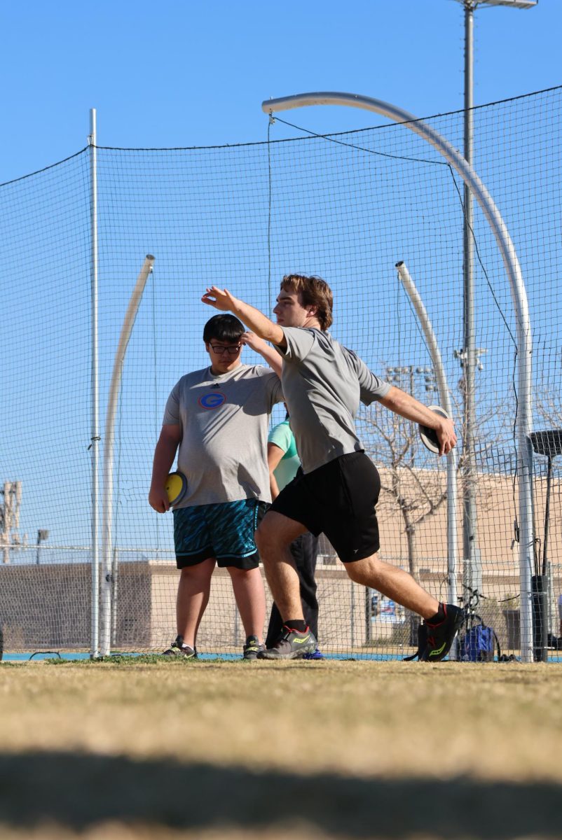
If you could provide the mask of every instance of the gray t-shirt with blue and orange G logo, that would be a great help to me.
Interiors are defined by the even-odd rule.
[[[187,477],[188,492],[176,507],[271,501],[268,425],[276,402],[283,402],[281,382],[262,365],[240,365],[220,376],[210,368],[182,376],[163,420],[182,429],[178,470]]]

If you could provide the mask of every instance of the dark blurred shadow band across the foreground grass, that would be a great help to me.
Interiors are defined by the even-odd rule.
[[[562,786],[365,780],[80,753],[0,754],[0,823],[82,832],[107,821],[328,837],[560,837]]]

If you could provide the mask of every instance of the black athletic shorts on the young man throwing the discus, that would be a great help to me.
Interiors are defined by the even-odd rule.
[[[300,472],[273,501],[270,511],[282,513],[317,537],[325,533],[343,563],[362,560],[380,548],[380,476],[361,452],[341,455],[310,473]]]

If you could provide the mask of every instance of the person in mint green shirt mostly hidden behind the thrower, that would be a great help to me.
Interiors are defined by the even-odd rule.
[[[300,458],[294,441],[294,434],[289,424],[289,414],[283,423],[278,423],[268,435],[268,467],[271,498],[274,501],[280,491],[284,489],[300,470]],[[300,534],[290,546],[294,558],[300,583],[300,600],[302,601],[305,621],[310,630],[318,638],[318,601],[316,600],[316,555],[318,554],[318,538],[307,531]],[[283,619],[277,605],[273,603],[269,617],[266,647],[271,648],[283,632]],[[321,659],[321,653],[316,650],[305,654],[304,659]]]

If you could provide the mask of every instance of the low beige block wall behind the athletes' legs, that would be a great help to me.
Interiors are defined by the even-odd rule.
[[[0,567],[0,622],[6,651],[65,650],[90,645],[90,570],[86,564]],[[443,593],[443,576],[420,575],[422,585],[436,596]],[[366,590],[349,580],[341,564],[318,570],[321,604],[319,635],[326,652],[393,650],[408,653],[410,630],[403,612],[396,622],[380,617],[368,622]],[[486,580],[485,580],[486,583]],[[498,591],[516,591],[517,575],[497,575]],[[178,570],[172,563],[123,563],[116,597],[114,648],[163,650],[176,630],[175,600]],[[554,587],[562,585],[560,576]],[[268,595],[268,610],[271,597]],[[506,606],[494,599],[480,602],[479,612],[496,628],[502,648],[507,647]],[[231,579],[215,570],[209,607],[199,631],[202,652],[241,650],[244,632],[236,612]],[[513,643],[512,643],[513,644]]]

